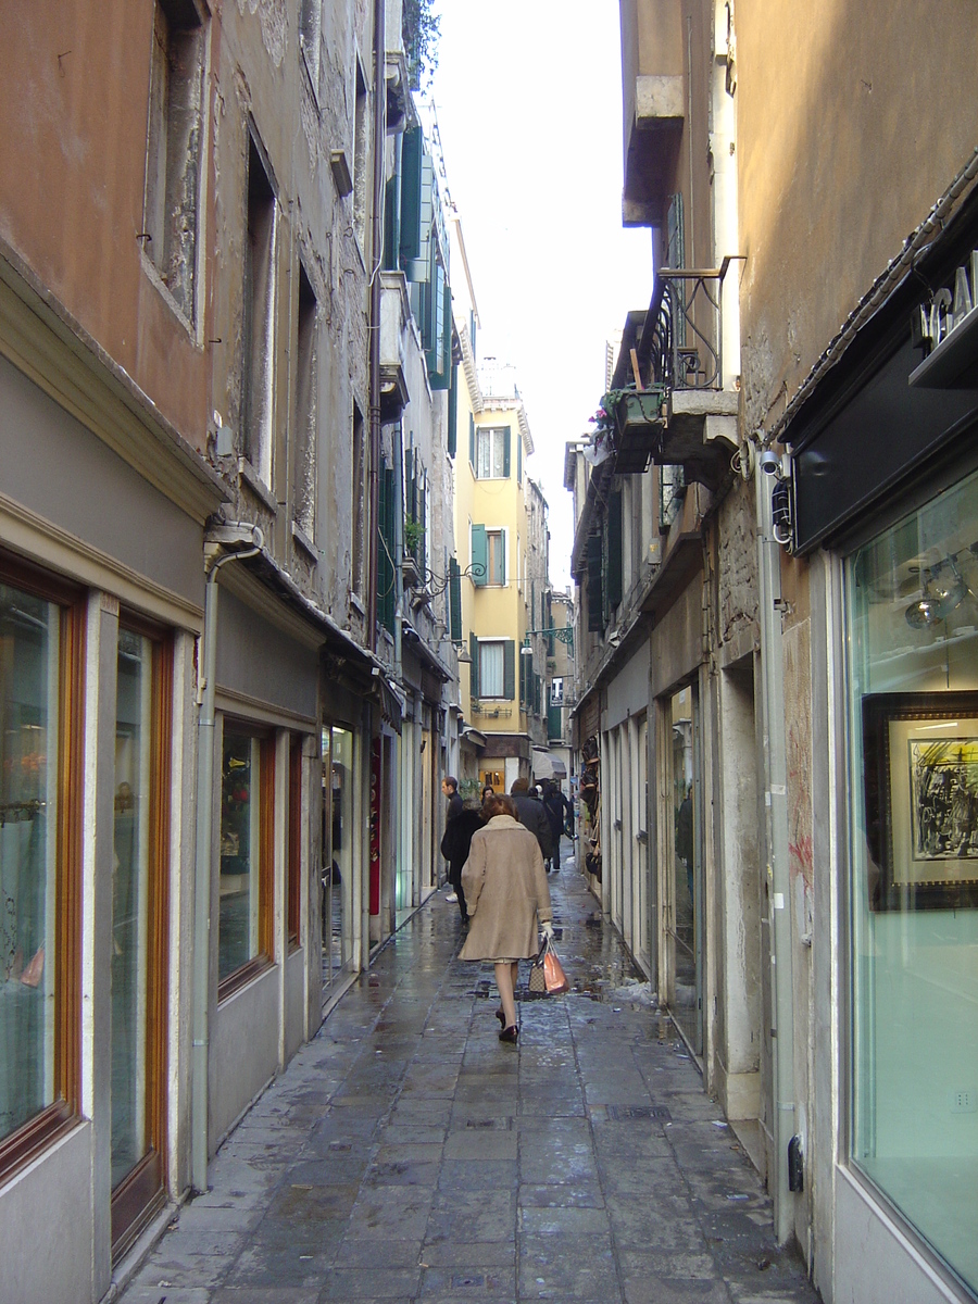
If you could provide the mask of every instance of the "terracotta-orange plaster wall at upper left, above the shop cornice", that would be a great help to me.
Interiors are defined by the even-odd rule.
[[[138,239],[153,10],[0,5],[0,235],[202,449],[206,351],[153,283]]]

